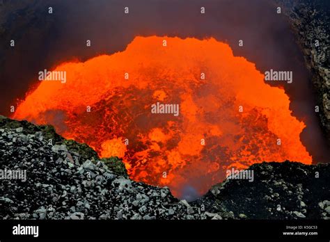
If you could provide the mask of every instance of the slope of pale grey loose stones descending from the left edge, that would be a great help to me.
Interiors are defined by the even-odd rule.
[[[197,219],[197,208],[168,188],[127,177],[117,158],[99,159],[87,145],[0,116],[0,165],[26,170],[26,181],[0,180],[0,219]],[[205,217],[206,218],[206,217]]]

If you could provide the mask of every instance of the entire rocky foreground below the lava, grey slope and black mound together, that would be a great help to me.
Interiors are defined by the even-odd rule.
[[[0,179],[0,219],[330,218],[329,164],[255,164],[253,182],[226,180],[189,204],[51,126],[0,116],[0,170],[19,169],[26,181]]]

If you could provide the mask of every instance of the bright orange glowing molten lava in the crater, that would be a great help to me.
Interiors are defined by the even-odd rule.
[[[312,161],[284,90],[213,38],[136,37],[123,52],[54,71],[65,71],[66,83],[41,81],[13,118],[53,124],[100,156],[123,158],[132,179],[175,195],[188,186],[205,193],[231,168]],[[179,115],[152,113],[157,102],[179,104]]]

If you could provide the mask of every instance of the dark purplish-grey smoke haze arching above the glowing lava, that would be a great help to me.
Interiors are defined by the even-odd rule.
[[[50,6],[52,14],[48,13]],[[128,15],[124,13],[126,6]],[[204,15],[201,7],[205,7]],[[328,162],[330,149],[314,112],[311,76],[288,19],[277,14],[276,7],[262,0],[4,3],[0,22],[1,29],[5,29],[0,38],[0,113],[10,115],[10,106],[17,106],[17,98],[23,99],[29,88],[38,85],[38,72],[52,70],[63,61],[85,61],[99,54],[123,51],[136,35],[212,36],[227,42],[235,56],[256,63],[260,72],[293,72],[293,83],[281,85],[290,95],[293,114],[307,125],[301,140],[315,163]],[[15,48],[9,46],[12,39]],[[86,40],[91,40],[91,47],[86,47]],[[243,40],[243,47],[239,47],[239,40]]]

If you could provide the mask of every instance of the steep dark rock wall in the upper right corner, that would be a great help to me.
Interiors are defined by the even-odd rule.
[[[320,121],[330,144],[330,2],[276,0],[285,9],[311,71]]]

